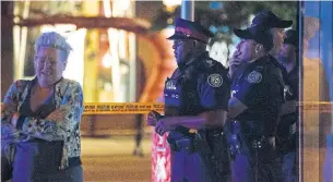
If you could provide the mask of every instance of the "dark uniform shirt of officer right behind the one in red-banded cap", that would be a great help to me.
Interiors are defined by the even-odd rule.
[[[242,74],[233,81],[231,97],[248,107],[235,118],[241,121],[246,133],[274,133],[284,102],[283,86],[280,70],[266,56],[248,64]]]

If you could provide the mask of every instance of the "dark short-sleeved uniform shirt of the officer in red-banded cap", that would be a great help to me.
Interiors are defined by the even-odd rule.
[[[166,116],[198,116],[209,110],[227,110],[227,71],[205,52],[189,61],[183,71],[177,69],[167,78],[164,96]],[[169,110],[174,110],[174,113],[169,113]]]

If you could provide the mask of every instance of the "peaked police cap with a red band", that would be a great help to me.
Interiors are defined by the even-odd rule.
[[[177,17],[175,21],[175,34],[167,39],[194,39],[207,44],[214,35],[197,22]]]

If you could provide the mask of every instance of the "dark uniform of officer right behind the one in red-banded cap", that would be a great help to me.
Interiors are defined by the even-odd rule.
[[[228,122],[235,182],[278,181],[274,135],[284,99],[280,80],[281,73],[264,57],[248,65],[231,85],[233,97],[248,107]]]

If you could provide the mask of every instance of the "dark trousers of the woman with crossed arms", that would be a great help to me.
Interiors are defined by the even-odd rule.
[[[13,182],[83,182],[80,165],[59,170],[62,143],[34,141],[16,144]]]

